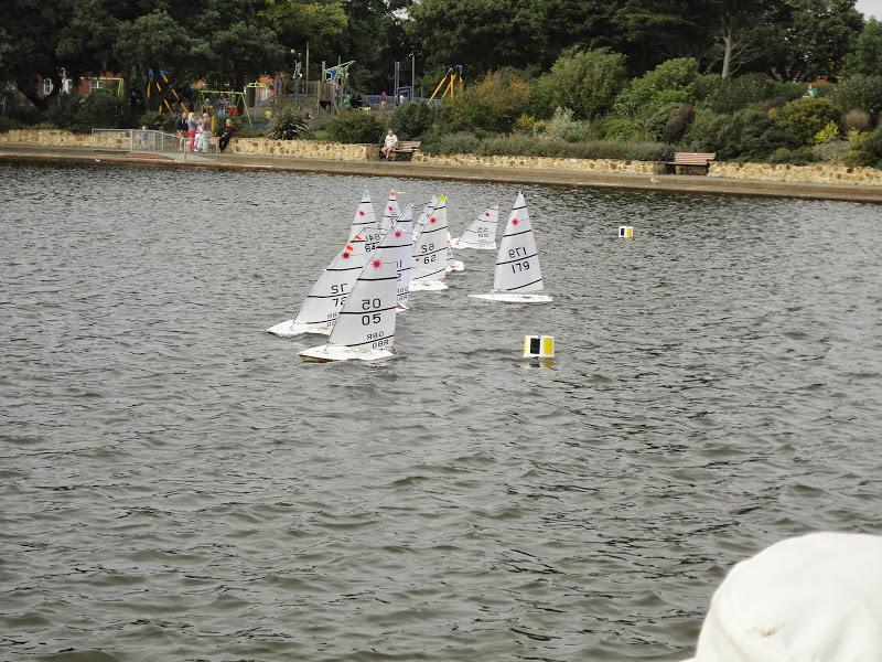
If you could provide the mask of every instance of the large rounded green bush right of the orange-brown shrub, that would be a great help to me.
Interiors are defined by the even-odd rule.
[[[625,84],[625,56],[607,49],[574,51],[557,58],[551,71],[539,77],[537,111],[570,108],[577,119],[609,113]]]

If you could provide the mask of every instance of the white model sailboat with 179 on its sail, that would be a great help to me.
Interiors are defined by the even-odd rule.
[[[551,301],[551,297],[534,293],[541,291],[542,288],[536,237],[533,234],[524,194],[518,192],[499,243],[493,291],[490,295],[469,296],[508,303],[547,303]]]

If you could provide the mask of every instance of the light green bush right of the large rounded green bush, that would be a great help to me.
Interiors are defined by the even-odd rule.
[[[616,97],[616,115],[647,118],[666,104],[695,100],[698,62],[679,57],[663,62],[639,78],[634,78]]]

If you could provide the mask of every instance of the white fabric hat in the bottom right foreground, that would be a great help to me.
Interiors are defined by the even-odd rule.
[[[690,662],[882,660],[882,537],[813,533],[739,563]]]

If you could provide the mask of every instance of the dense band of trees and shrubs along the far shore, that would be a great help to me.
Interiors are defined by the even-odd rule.
[[[374,143],[388,126],[440,152],[654,158],[676,146],[772,162],[880,159],[882,23],[854,0],[9,0],[4,10],[0,79],[33,106],[7,104],[0,130],[160,127],[171,85],[240,89],[282,73],[290,88],[309,44],[311,81],[322,61],[355,60],[349,84],[363,93],[392,93],[396,61],[409,84],[412,57],[427,92],[449,66],[465,67],[452,99],[320,118],[318,135],[336,140]],[[108,72],[125,78],[122,95],[58,95],[63,73]],[[169,81],[148,96],[160,72]],[[41,77],[54,84],[45,98]],[[281,107],[268,134],[304,137],[310,124]]]

